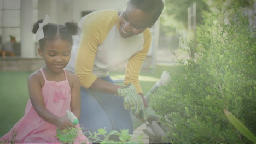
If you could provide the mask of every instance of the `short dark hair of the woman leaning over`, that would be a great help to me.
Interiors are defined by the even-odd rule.
[[[146,13],[152,13],[152,23],[158,20],[162,9],[164,9],[164,2],[162,0],[129,0],[127,5],[129,4],[134,5],[136,8]]]

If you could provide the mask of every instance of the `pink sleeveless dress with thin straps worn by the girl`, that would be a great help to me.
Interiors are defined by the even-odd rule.
[[[46,109],[58,117],[66,115],[66,110],[70,110],[71,103],[71,88],[69,86],[66,71],[66,80],[64,81],[48,81],[44,71],[40,69],[44,77],[44,86],[42,87],[42,95]],[[79,125],[77,125],[79,128]],[[60,143],[56,137],[56,126],[45,122],[28,100],[25,115],[18,121],[13,129],[17,132],[16,140],[20,143]],[[13,130],[1,137],[0,141],[11,138]],[[79,141],[79,142],[78,142]],[[87,138],[80,131],[75,143],[89,143]]]

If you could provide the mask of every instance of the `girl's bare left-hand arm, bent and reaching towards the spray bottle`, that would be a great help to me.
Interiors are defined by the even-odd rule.
[[[31,104],[34,107],[34,110],[36,110],[37,114],[44,119],[44,121],[55,125],[61,130],[67,127],[75,127],[68,121],[66,115],[60,118],[53,115],[53,113],[46,109],[41,90],[42,87],[40,86],[41,75],[39,73],[40,72],[37,71],[28,77],[28,92],[30,94]]]

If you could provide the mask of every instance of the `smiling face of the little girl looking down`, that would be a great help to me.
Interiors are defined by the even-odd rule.
[[[39,55],[44,58],[46,67],[53,73],[62,73],[69,62],[71,44],[66,40],[56,39],[47,41],[42,49],[38,49]]]

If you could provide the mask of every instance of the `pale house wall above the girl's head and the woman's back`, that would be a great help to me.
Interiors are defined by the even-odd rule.
[[[79,22],[82,11],[101,9],[123,10],[127,2],[128,0],[39,0],[38,17],[43,19],[45,14],[48,14],[53,23]]]

